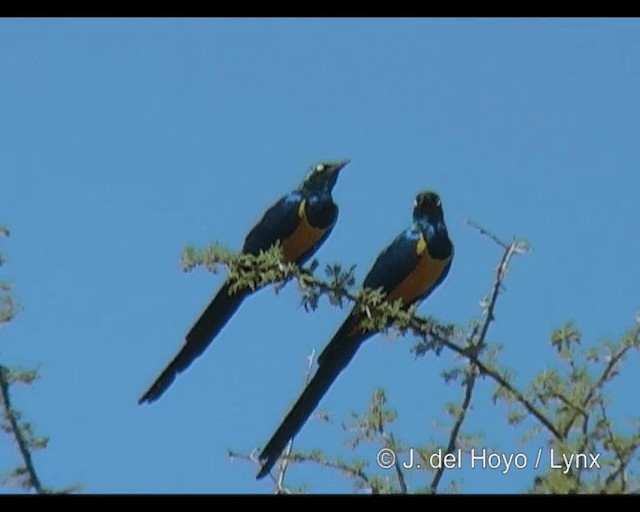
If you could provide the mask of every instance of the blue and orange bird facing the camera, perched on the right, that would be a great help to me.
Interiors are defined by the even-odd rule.
[[[426,299],[444,281],[451,268],[453,244],[444,222],[440,197],[425,191],[416,196],[413,224],[378,256],[363,286],[379,289],[386,300],[401,299],[403,307]],[[287,443],[305,424],[340,372],[362,343],[376,334],[361,327],[354,308],[318,357],[318,369],[287,417],[260,454],[257,478],[267,475]]]

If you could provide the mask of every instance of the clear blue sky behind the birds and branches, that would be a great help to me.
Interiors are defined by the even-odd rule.
[[[306,314],[294,286],[262,291],[159,402],[136,401],[223,279],[183,274],[182,249],[240,248],[323,159],[351,164],[317,256],[357,264],[359,279],[409,224],[415,193],[441,194],[456,257],[423,314],[463,326],[480,314],[500,249],[465,217],[531,242],[490,331],[519,384],[555,364],[547,340],[567,320],[589,342],[619,336],[640,307],[638,91],[639,20],[0,20],[2,276],[24,307],[0,358],[41,370],[14,400],[51,438],[35,455],[42,480],[271,491],[226,450],[269,439],[345,311]],[[439,376],[452,359],[415,361],[412,344],[373,338],[321,409],[347,419],[381,386],[407,444],[441,439],[433,422],[461,393]],[[638,415],[632,365],[615,387],[620,421]],[[492,386],[480,388],[466,426],[487,447],[521,450]],[[297,447],[348,459],[344,438],[339,421],[311,421]],[[374,464],[374,453],[359,456]],[[15,462],[0,437],[0,470]],[[526,471],[452,476],[468,492],[531,482]],[[302,482],[350,489],[308,465],[289,473]]]

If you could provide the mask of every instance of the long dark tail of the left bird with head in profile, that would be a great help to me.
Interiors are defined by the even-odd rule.
[[[225,283],[202,315],[200,315],[200,318],[193,324],[178,354],[147,392],[142,395],[138,403],[151,403],[160,398],[176,376],[186,370],[211,344],[249,293],[249,291],[238,291],[233,295],[229,295],[229,284]]]

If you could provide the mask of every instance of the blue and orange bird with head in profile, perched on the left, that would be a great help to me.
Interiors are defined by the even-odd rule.
[[[338,206],[331,192],[340,171],[349,163],[324,162],[311,168],[302,184],[273,204],[249,231],[242,252],[258,255],[280,242],[284,261],[302,265],[324,243],[338,220]],[[142,395],[139,404],[162,396],[179,373],[199,357],[242,304],[253,293],[230,293],[225,282],[187,333],[178,354]]]

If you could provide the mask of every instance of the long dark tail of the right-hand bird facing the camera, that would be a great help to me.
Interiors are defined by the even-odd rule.
[[[260,479],[269,474],[289,440],[306,423],[333,381],[349,364],[364,341],[365,336],[349,333],[353,325],[353,317],[350,317],[320,354],[318,370],[313,379],[307,384],[298,401],[262,450],[259,457],[262,467],[256,478]]]

